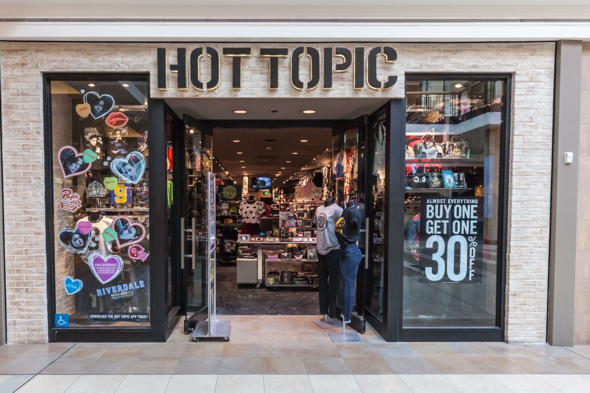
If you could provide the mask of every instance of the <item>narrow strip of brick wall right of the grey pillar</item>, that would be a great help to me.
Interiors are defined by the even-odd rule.
[[[582,44],[582,94],[576,235],[576,289],[573,344],[590,344],[590,42]],[[574,158],[575,159],[575,158]]]

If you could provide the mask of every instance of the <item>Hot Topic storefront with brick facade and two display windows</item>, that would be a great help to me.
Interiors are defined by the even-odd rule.
[[[358,162],[334,190],[365,205],[353,328],[545,342],[548,250],[522,236],[549,228],[554,42],[0,48],[5,249],[24,269],[6,270],[8,342],[165,341],[202,309],[203,245],[180,235],[210,190],[196,207],[186,179],[240,122],[330,127],[333,160]],[[225,117],[199,112],[217,102]],[[198,170],[173,153],[187,143]]]

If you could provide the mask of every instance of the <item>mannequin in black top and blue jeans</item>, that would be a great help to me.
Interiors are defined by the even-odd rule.
[[[355,298],[356,273],[359,271],[362,253],[356,242],[359,240],[360,224],[362,222],[362,213],[356,206],[355,200],[352,199],[346,204],[346,210],[336,222],[336,237],[342,250],[342,260],[340,262],[340,271],[344,289],[342,295],[342,320],[344,323],[350,323],[352,316],[352,305]]]

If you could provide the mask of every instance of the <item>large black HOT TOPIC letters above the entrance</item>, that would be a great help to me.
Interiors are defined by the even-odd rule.
[[[367,85],[374,90],[387,90],[395,85],[398,80],[396,75],[389,75],[385,82],[377,79],[377,57],[379,55],[385,58],[386,63],[393,63],[397,60],[398,54],[391,47],[375,47],[366,55],[365,48],[355,48],[354,52],[348,48],[323,48],[323,56],[320,58],[320,52],[313,47],[297,47],[291,53],[291,85],[297,90],[312,90],[320,85],[322,79],[322,88],[329,90],[332,88],[333,72],[349,71],[353,67],[354,88],[360,89],[365,87],[365,78]],[[178,89],[187,90],[190,81],[192,87],[196,90],[215,90],[219,87],[219,78],[221,74],[221,58],[219,52],[211,47],[195,48],[191,51],[190,65],[188,64],[186,48],[176,49],[176,64],[168,65],[168,52],[166,48],[158,48],[158,88],[160,90],[168,89],[168,71],[178,72]],[[211,78],[209,81],[201,81],[201,58],[207,55],[211,59]],[[232,59],[232,87],[241,88],[242,80],[242,58],[252,56],[251,48],[223,48],[222,55]],[[303,82],[300,79],[300,59],[306,55],[310,58],[311,63],[311,80]],[[289,57],[287,48],[260,48],[260,57],[268,58],[269,85],[270,90],[278,89],[278,58]],[[334,64],[334,58],[337,58]],[[340,60],[341,59],[341,60]],[[321,65],[320,65],[321,62]],[[320,75],[321,74],[321,75]]]

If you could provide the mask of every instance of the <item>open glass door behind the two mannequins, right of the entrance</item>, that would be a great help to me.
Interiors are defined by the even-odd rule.
[[[333,179],[335,185],[334,198],[336,203],[346,209],[348,203],[354,202],[363,216],[358,246],[362,253],[358,274],[356,276],[355,299],[350,327],[365,332],[364,308],[365,304],[365,245],[366,245],[366,217],[365,217],[365,146],[368,117],[366,115],[354,120],[342,121],[332,130],[333,151]],[[342,287],[342,286],[341,286]],[[342,293],[340,288],[338,307],[342,309]]]

